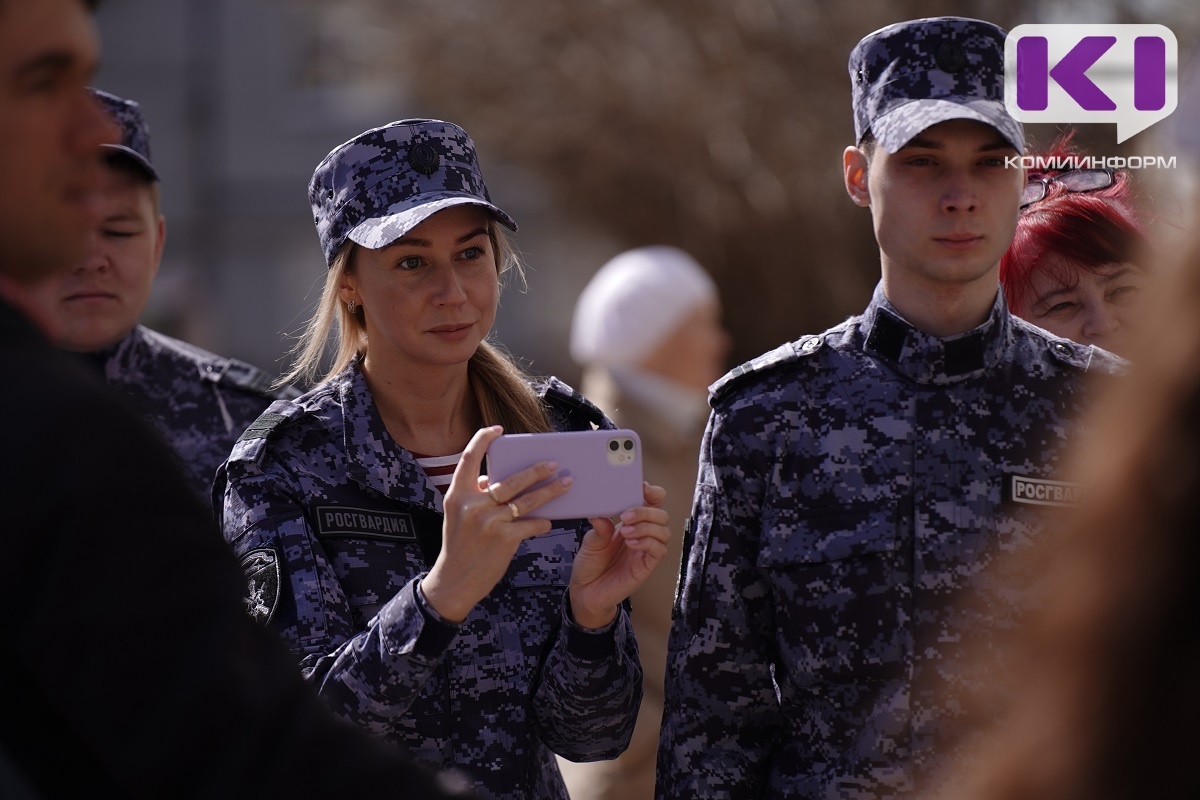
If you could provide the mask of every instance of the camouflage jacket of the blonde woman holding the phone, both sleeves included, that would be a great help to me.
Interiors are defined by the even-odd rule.
[[[557,429],[612,427],[560,381],[538,390]],[[437,618],[416,587],[440,547],[442,494],[388,434],[358,363],[275,403],[222,471],[247,609],[340,716],[505,800],[565,799],[554,752],[628,746],[642,685],[628,609],[599,632],[565,610],[586,521],[523,542],[462,625]]]

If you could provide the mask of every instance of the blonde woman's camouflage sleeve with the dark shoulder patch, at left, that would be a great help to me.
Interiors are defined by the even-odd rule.
[[[418,576],[365,631],[355,630],[295,480],[280,464],[244,458],[264,441],[240,441],[217,476],[222,529],[247,573],[247,610],[290,645],[337,715],[384,735],[418,697],[458,628],[422,610]]]

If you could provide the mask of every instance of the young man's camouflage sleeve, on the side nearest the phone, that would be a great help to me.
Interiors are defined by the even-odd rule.
[[[758,796],[781,712],[770,587],[756,569],[772,474],[754,402],[709,417],[672,622],[659,798]]]

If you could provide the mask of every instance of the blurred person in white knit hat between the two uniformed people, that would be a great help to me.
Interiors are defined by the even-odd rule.
[[[643,470],[667,491],[664,509],[674,530],[665,559],[670,569],[656,570],[630,597],[643,672],[634,740],[616,760],[564,764],[563,776],[572,800],[650,798],[683,521],[696,486],[707,389],[721,377],[730,351],[716,284],[676,247],[625,251],[581,293],[570,350],[583,367],[583,393],[619,427],[641,435]]]

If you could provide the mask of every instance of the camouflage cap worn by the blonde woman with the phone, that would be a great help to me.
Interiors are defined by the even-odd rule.
[[[455,205],[480,205],[510,228],[517,223],[487,194],[475,143],[452,122],[400,120],[335,148],[308,184],[325,263],[346,240],[378,249]]]

